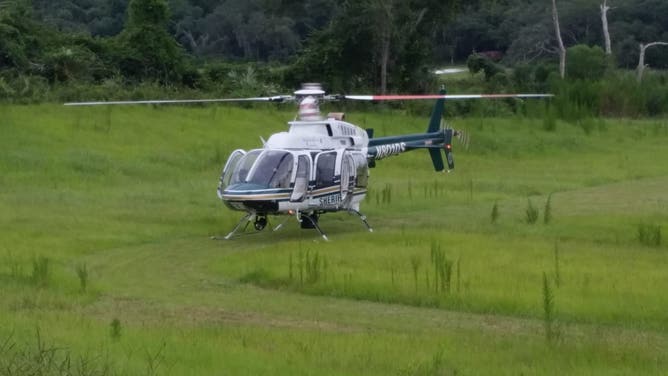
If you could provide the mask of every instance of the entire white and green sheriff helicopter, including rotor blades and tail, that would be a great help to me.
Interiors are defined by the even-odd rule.
[[[442,127],[443,107],[450,99],[540,98],[550,94],[462,94],[448,95],[442,89],[429,95],[327,95],[319,84],[304,84],[293,95],[254,98],[144,100],[75,102],[68,106],[179,104],[214,102],[296,102],[296,118],[288,122],[288,131],[273,134],[261,148],[234,150],[225,163],[217,189],[218,197],[230,209],[245,214],[224,239],[247,232],[264,230],[269,216],[285,216],[273,227],[279,230],[290,218],[301,228],[315,229],[327,240],[319,225],[320,215],[346,211],[356,215],[368,231],[373,228],[360,212],[367,193],[369,168],[376,161],[404,152],[426,149],[436,171],[454,169],[453,139],[465,145],[464,132]],[[325,101],[395,101],[435,99],[436,103],[425,133],[374,137],[373,129],[362,129],[345,121],[340,112],[324,115]],[[445,155],[445,162],[442,154]],[[214,237],[215,238],[215,237]]]

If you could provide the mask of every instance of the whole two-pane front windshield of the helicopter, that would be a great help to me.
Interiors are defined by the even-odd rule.
[[[287,151],[253,150],[237,165],[233,183],[252,183],[267,188],[290,188],[293,163],[292,153]]]

